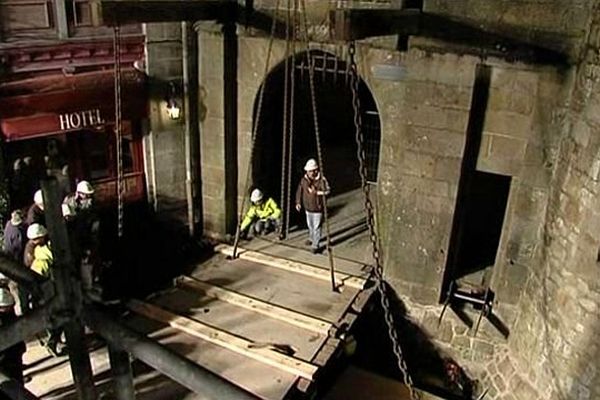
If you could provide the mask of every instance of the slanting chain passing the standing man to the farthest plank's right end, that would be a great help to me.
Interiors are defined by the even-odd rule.
[[[308,82],[310,87],[310,101],[313,112],[313,123],[315,127],[315,140],[317,143],[317,162],[319,164],[319,169],[321,170],[321,177],[325,179],[325,169],[323,168],[323,152],[321,151],[321,134],[319,131],[319,116],[317,114],[317,96],[315,94],[315,62],[310,55],[309,48],[309,37],[308,37],[308,20],[306,17],[306,3],[305,0],[301,0],[301,14],[304,19],[304,35],[306,40],[306,61],[308,62]],[[327,254],[329,255],[329,271],[331,273],[331,288],[335,292],[338,290],[337,284],[335,282],[335,267],[333,262],[333,249],[331,248],[331,234],[329,229],[329,216],[327,212],[327,197],[323,196],[323,217],[325,218],[325,234],[327,235],[327,240],[325,241],[325,245],[327,247]]]

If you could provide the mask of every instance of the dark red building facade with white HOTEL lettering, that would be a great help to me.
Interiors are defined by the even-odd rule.
[[[91,181],[97,200],[116,199],[117,139],[113,32],[93,27],[89,1],[0,3],[0,134],[10,206],[31,203],[39,180],[65,192]],[[122,28],[120,46],[125,199],[144,198],[142,126],[146,79],[141,26]]]

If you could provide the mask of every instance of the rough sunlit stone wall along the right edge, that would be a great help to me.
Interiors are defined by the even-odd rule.
[[[541,262],[531,269],[510,348],[547,399],[600,396],[599,4],[578,66],[549,193]]]

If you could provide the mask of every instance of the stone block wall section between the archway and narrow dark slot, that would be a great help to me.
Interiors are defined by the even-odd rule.
[[[378,213],[387,279],[422,304],[439,299],[460,179],[475,61],[363,47],[361,73],[382,123]],[[406,69],[380,80],[374,66]]]

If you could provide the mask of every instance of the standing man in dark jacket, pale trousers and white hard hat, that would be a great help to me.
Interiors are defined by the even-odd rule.
[[[296,210],[300,211],[304,207],[309,238],[307,244],[310,244],[313,253],[318,253],[325,207],[324,197],[329,194],[330,188],[315,159],[311,158],[306,162],[304,171],[296,190]]]

